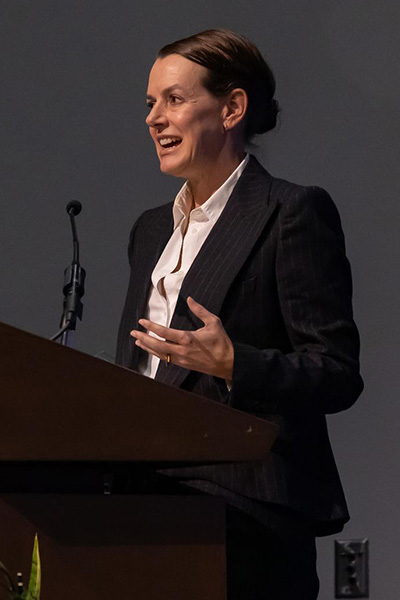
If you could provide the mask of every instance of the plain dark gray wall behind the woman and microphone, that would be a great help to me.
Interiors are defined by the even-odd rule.
[[[223,26],[270,61],[282,124],[257,154],[273,174],[330,191],[353,266],[366,389],[330,418],[353,515],[340,537],[370,538],[371,599],[397,600],[398,2],[5,0],[0,23],[0,320],[56,331],[71,259],[64,206],[77,198],[87,291],[76,347],[92,354],[114,354],[132,222],[180,185],[158,173],[144,125],[156,50]],[[329,600],[332,538],[319,548]]]

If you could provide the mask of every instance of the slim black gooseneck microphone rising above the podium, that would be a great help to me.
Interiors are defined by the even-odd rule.
[[[61,329],[52,337],[55,341],[62,336],[61,344],[68,345],[68,333],[75,331],[76,319],[82,321],[83,304],[81,298],[85,293],[86,272],[79,263],[79,240],[76,231],[75,216],[82,210],[82,204],[78,200],[68,202],[67,213],[69,214],[72,229],[73,258],[72,263],[64,271],[64,303],[61,318]]]

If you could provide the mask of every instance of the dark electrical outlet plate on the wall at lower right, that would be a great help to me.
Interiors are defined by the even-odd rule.
[[[368,598],[368,540],[335,540],[335,598]]]

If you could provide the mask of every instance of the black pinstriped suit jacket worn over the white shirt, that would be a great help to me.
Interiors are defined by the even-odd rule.
[[[129,332],[145,315],[151,273],[172,234],[172,204],[146,211],[129,244],[131,279],[117,362],[136,369],[141,350]],[[256,502],[277,503],[321,532],[348,519],[325,414],[351,406],[362,391],[351,275],[338,212],[329,195],[271,177],[251,157],[187,273],[171,327],[202,323],[191,295],[220,316],[234,343],[233,385],[163,362],[156,378],[275,420],[284,454],[266,463],[169,470]]]

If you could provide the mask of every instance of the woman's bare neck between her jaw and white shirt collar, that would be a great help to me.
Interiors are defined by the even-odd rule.
[[[189,186],[192,192],[194,207],[204,204],[212,194],[221,187],[233,171],[240,165],[245,157],[244,150],[229,157],[220,157],[219,160],[210,165],[201,177],[190,178]]]

